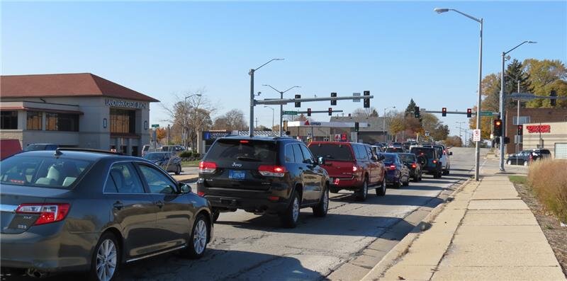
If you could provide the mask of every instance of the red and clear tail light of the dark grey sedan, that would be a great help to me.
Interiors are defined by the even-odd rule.
[[[19,205],[16,214],[39,214],[33,225],[62,221],[69,213],[69,203],[26,203]]]

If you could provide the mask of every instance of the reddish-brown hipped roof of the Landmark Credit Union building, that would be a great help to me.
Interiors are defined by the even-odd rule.
[[[0,76],[0,96],[2,98],[107,96],[159,102],[155,98],[90,73]]]

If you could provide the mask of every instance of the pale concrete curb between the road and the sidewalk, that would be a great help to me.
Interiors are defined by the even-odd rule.
[[[374,265],[374,268],[372,268],[369,273],[366,273],[366,275],[364,275],[361,280],[378,280],[379,277],[386,272],[386,270],[388,270],[392,267],[392,265],[395,264],[395,261],[398,260],[398,258],[402,257],[403,255],[405,255],[405,253],[408,252],[408,248],[412,246],[413,241],[415,241],[415,239],[420,236],[422,231],[430,228],[430,223],[433,222],[433,220],[437,217],[437,215],[439,215],[440,212],[442,212],[447,203],[452,201],[449,200],[449,198],[452,199],[456,193],[459,193],[466,185],[471,183],[471,181],[471,178],[467,179],[464,183],[459,185],[459,188],[454,190],[453,193],[451,193],[451,195],[447,197],[447,200],[445,200],[445,202],[442,202],[441,204],[437,205],[437,207],[434,207],[434,209],[431,210],[430,214],[427,214],[427,217],[422,219],[422,221],[417,224],[408,235],[406,235],[398,244],[396,244],[388,253],[386,253],[386,256],[383,256],[383,258],[376,265]]]

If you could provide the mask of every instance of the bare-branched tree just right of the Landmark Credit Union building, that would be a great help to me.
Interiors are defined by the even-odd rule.
[[[217,110],[215,105],[203,95],[205,92],[204,88],[200,88],[186,92],[183,96],[174,95],[173,105],[161,103],[167,113],[164,121],[181,126],[186,135],[184,145],[187,146],[190,142],[193,148],[196,145],[198,132],[208,130],[213,125],[210,115]]]

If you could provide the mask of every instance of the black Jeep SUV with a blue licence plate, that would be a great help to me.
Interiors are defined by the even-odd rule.
[[[295,227],[299,209],[313,207],[324,217],[329,206],[329,176],[303,142],[289,137],[223,137],[199,164],[198,195],[220,212],[237,209],[278,214]]]

